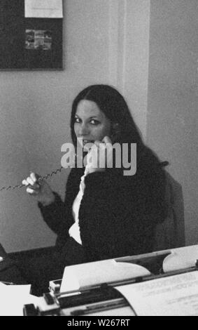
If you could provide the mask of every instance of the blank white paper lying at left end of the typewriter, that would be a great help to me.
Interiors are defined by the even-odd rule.
[[[30,288],[30,285],[0,283],[0,316],[22,316],[24,305],[37,305],[39,298],[29,294]]]

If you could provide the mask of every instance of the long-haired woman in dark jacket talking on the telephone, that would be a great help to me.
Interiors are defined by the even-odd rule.
[[[153,250],[155,226],[165,218],[165,176],[160,161],[143,144],[127,103],[115,88],[88,86],[73,101],[71,138],[99,156],[99,147],[136,143],[136,173],[124,175],[116,159],[108,167],[87,164],[73,168],[65,200],[38,176],[23,180],[38,199],[43,219],[57,234],[60,276],[65,265],[148,253]],[[87,149],[87,143],[95,148]],[[123,154],[123,151],[122,151]],[[131,156],[130,147],[127,156]],[[104,154],[103,154],[104,157]],[[130,159],[130,158],[129,158]],[[123,164],[122,164],[123,165]],[[57,261],[55,261],[56,263]]]

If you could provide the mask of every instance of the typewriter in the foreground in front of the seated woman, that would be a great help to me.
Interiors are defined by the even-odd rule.
[[[198,246],[195,247],[197,256]],[[116,288],[197,270],[198,263],[188,261],[185,267],[176,265],[176,269],[164,273],[164,260],[174,251],[183,254],[186,249],[191,253],[188,248],[180,248],[66,267],[63,278],[50,282],[50,291],[43,293],[36,306],[24,305],[24,315],[134,316],[132,306]]]

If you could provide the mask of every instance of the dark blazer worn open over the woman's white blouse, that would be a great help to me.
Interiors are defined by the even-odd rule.
[[[55,193],[49,206],[38,204],[43,219],[57,234],[57,247],[64,251],[73,225],[73,201],[84,169],[71,169],[64,202]],[[143,154],[134,176],[121,169],[106,169],[85,177],[79,226],[87,262],[148,253],[153,250],[155,226],[165,218],[165,176],[156,157]]]

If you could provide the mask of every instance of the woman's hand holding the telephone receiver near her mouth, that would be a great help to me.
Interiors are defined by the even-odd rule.
[[[101,141],[95,141],[87,154],[87,169],[89,173],[105,171],[113,167],[113,147],[111,139],[105,136]]]

